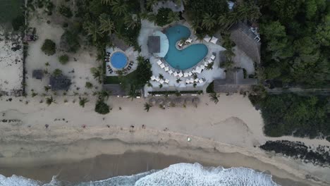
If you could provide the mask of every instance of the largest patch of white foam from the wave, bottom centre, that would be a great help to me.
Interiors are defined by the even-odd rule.
[[[271,175],[250,168],[204,168],[199,163],[178,163],[141,178],[135,185],[274,186],[276,183]]]

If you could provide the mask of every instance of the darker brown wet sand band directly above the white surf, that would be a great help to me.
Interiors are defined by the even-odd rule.
[[[0,167],[0,173],[7,177],[22,175],[25,178],[49,182],[54,175],[58,180],[68,182],[88,182],[105,180],[118,175],[133,175],[151,170],[160,170],[175,163],[200,163],[203,166],[221,166],[201,159],[184,159],[146,151],[126,151],[124,154],[102,154],[92,159],[72,163],[43,164],[41,166]],[[230,168],[230,166],[224,166]],[[269,171],[267,171],[270,173]],[[274,182],[283,186],[308,186],[306,183],[272,176]]]

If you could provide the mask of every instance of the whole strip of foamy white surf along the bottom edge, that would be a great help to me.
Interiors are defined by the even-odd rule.
[[[159,171],[148,171],[136,175],[118,176],[94,182],[71,183],[56,180],[44,183],[18,175],[0,175],[0,186],[274,186],[271,175],[250,168],[206,168],[199,163],[178,163]]]

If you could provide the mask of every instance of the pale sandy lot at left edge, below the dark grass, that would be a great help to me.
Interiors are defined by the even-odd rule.
[[[6,39],[0,31],[0,93],[13,96],[23,89],[23,44],[18,35],[8,35]],[[21,49],[12,51],[13,43]]]

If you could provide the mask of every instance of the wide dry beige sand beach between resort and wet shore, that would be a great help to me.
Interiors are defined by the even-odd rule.
[[[149,113],[143,110],[145,99],[111,97],[108,104],[113,109],[106,116],[93,111],[92,99],[85,108],[72,103],[78,99],[75,97],[55,97],[57,104],[50,106],[39,103],[43,97],[27,97],[28,104],[23,98],[6,99],[2,97],[0,101],[1,119],[16,121],[0,125],[3,168],[72,163],[101,154],[146,151],[212,166],[245,166],[310,185],[326,185],[326,182],[312,182],[306,175],[329,182],[326,178],[329,168],[266,154],[257,148],[267,140],[301,141],[315,147],[329,142],[265,137],[259,111],[239,94],[221,95],[218,104],[204,95],[200,96],[197,108],[152,107]],[[68,102],[63,103],[63,99]]]

